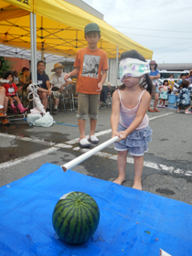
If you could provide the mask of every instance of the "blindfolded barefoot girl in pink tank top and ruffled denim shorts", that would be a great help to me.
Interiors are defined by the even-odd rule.
[[[153,88],[147,75],[149,64],[137,51],[126,51],[121,55],[120,72],[123,85],[112,95],[112,137],[120,137],[114,147],[118,151],[119,176],[113,182],[121,185],[125,180],[129,151],[134,160],[133,188],[142,189],[144,152],[148,151],[152,134],[146,115]]]

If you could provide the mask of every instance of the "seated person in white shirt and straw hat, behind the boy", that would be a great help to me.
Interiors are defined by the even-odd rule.
[[[68,84],[74,84],[75,81],[68,79],[67,81],[64,80],[65,72],[63,72],[64,66],[56,63],[54,65],[54,69],[51,69],[51,72],[55,72],[50,77],[50,83],[53,85],[51,91],[53,91],[52,95],[54,97],[54,110],[53,114],[58,113],[58,105],[59,105],[59,98],[61,97],[61,93],[63,93],[63,87],[67,86]]]

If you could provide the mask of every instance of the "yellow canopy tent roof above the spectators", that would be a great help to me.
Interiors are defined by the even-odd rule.
[[[0,0],[0,44],[30,49],[29,14],[37,15],[37,50],[66,57],[75,57],[86,46],[84,27],[97,23],[101,27],[99,47],[108,58],[116,58],[129,49],[136,49],[145,59],[153,51],[109,26],[106,22],[63,0]]]

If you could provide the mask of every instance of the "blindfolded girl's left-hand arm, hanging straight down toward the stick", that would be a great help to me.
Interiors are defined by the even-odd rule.
[[[112,137],[118,135],[118,125],[120,119],[120,99],[119,92],[116,90],[112,94],[112,115],[111,115],[111,126],[112,126]]]

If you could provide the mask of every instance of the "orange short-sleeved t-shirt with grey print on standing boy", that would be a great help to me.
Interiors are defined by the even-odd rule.
[[[86,94],[100,94],[98,83],[101,81],[101,71],[108,69],[107,54],[101,48],[91,50],[82,48],[78,51],[75,68],[80,68],[76,91]]]

